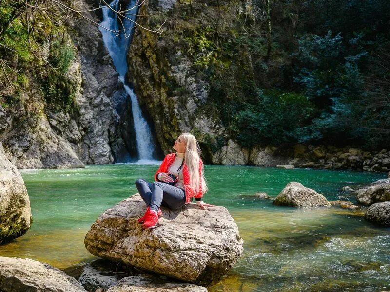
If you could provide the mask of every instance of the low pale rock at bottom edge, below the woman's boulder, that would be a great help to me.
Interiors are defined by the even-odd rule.
[[[107,292],[207,292],[207,289],[194,284],[167,282],[148,275],[139,275],[123,278]]]

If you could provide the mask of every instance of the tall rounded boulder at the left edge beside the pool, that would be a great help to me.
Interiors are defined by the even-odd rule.
[[[0,244],[20,237],[32,221],[30,199],[18,169],[0,143]]]

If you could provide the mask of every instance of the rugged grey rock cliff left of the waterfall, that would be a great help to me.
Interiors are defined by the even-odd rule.
[[[85,1],[72,5],[88,8]],[[19,91],[9,85],[0,90],[0,139],[18,168],[83,167],[136,154],[134,139],[128,139],[134,136],[131,103],[101,33],[90,21],[69,16],[63,21],[54,28],[43,23],[46,30],[39,27],[36,34],[46,39],[44,58],[60,55],[67,70],[24,65],[26,82]]]

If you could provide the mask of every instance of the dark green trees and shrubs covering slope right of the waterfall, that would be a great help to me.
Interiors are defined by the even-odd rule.
[[[381,149],[390,144],[389,15],[386,0],[179,0],[149,24],[168,19],[155,57],[190,60],[210,86],[198,109],[222,121],[226,139]],[[171,74],[162,70],[168,96],[189,95]]]

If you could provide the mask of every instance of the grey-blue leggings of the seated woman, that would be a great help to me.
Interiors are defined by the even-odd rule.
[[[160,206],[176,210],[186,202],[185,192],[167,183],[149,183],[139,179],[136,181],[136,187],[146,205],[156,212]]]

